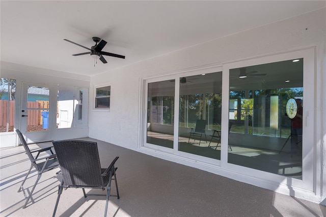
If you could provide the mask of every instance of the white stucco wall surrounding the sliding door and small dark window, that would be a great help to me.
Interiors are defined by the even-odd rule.
[[[326,9],[323,8],[93,76],[89,136],[139,150],[139,113],[143,112],[139,111],[140,78],[316,46],[316,198],[311,200],[326,204],[325,36]],[[111,85],[110,112],[97,112],[92,110],[94,86],[105,83]]]

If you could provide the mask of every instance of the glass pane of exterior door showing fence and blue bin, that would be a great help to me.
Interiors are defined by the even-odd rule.
[[[27,87],[27,132],[46,131],[49,126],[49,93],[45,87]]]

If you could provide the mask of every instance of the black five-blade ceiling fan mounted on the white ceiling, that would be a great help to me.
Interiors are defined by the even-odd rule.
[[[103,47],[107,43],[106,41],[101,40],[98,37],[93,37],[92,39],[95,42],[95,45],[92,46],[91,48],[88,48],[88,47],[85,47],[83,45],[77,44],[77,43],[75,43],[73,41],[69,41],[68,39],[64,39],[64,40],[68,41],[70,43],[73,43],[73,44],[75,44],[75,45],[77,45],[79,47],[84,47],[85,49],[90,50],[89,52],[77,53],[77,54],[72,55],[72,56],[80,56],[80,55],[90,54],[91,57],[93,57],[94,59],[100,59],[100,61],[102,61],[102,63],[107,63],[106,60],[104,59],[103,55],[104,56],[110,56],[110,57],[117,57],[117,58],[125,59],[125,56],[117,55],[115,53],[109,53],[109,52],[102,51]]]

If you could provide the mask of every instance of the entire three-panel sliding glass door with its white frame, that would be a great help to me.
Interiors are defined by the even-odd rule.
[[[205,70],[146,80],[144,146],[311,191],[313,49]]]

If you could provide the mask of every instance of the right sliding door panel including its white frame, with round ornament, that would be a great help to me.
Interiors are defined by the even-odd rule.
[[[225,168],[312,191],[314,49],[226,64],[223,73],[222,123],[232,123]]]

